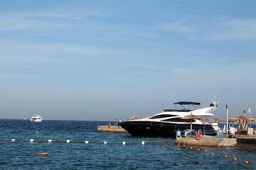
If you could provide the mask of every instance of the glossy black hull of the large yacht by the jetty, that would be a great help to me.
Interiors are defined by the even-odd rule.
[[[156,121],[125,121],[118,123],[132,136],[158,136],[158,137],[174,137],[176,131],[184,131],[190,129],[190,123],[170,123]],[[204,135],[217,135],[216,131],[210,125],[192,124],[192,129],[202,131]],[[204,132],[204,131],[203,131]]]

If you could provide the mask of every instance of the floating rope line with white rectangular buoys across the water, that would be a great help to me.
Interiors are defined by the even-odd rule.
[[[16,142],[16,141],[21,141],[21,142],[30,142],[30,143],[34,143],[34,142],[48,142],[48,143],[98,143],[98,144],[118,144],[121,143],[122,145],[126,145],[126,144],[137,144],[137,143],[141,143],[141,145],[145,145],[145,143],[161,143],[161,142],[171,142],[173,140],[167,140],[167,141],[141,141],[141,142],[95,142],[95,141],[70,141],[70,140],[66,140],[66,141],[62,141],[62,140],[52,140],[52,139],[48,139],[48,140],[36,140],[36,139],[0,139],[0,141],[12,141],[12,142]]]

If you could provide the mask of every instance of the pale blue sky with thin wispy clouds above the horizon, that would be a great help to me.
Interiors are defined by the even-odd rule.
[[[255,0],[2,0],[0,119],[256,116]],[[214,117],[210,117],[214,118]]]

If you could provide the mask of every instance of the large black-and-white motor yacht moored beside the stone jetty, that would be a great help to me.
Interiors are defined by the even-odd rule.
[[[176,136],[176,131],[205,130],[206,135],[217,135],[215,129],[204,119],[180,119],[186,115],[199,117],[215,116],[213,111],[218,108],[218,102],[213,101],[210,107],[201,108],[198,102],[177,102],[174,109],[164,109],[163,112],[143,119],[119,119],[118,124],[134,136]]]

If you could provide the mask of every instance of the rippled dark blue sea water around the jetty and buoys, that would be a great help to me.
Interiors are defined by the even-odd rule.
[[[183,147],[175,145],[175,137],[134,137],[129,133],[97,132],[98,123],[114,125],[116,122],[0,119],[0,169],[256,169],[256,152],[251,150]],[[196,160],[200,163],[195,164]],[[246,160],[248,164],[245,164]]]

